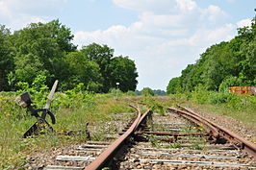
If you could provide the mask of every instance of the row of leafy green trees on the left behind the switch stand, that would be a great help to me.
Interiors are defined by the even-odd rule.
[[[86,90],[108,92],[116,86],[135,90],[138,72],[128,57],[114,57],[114,49],[91,43],[78,50],[73,35],[59,20],[31,23],[11,33],[0,25],[0,91],[15,90],[18,82],[33,83],[46,76],[46,85],[60,81],[59,89],[83,83]]]

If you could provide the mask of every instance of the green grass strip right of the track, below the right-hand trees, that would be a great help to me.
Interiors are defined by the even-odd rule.
[[[253,95],[209,91],[197,86],[187,97],[190,101],[203,105],[205,109],[228,115],[256,128],[256,97]]]

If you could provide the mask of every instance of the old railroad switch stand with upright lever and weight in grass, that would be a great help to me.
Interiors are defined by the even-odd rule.
[[[44,106],[43,109],[34,109],[32,104],[32,100],[30,97],[30,94],[28,92],[25,92],[23,94],[21,94],[20,96],[18,96],[15,99],[15,102],[21,107],[21,108],[26,108],[28,110],[30,110],[31,115],[35,116],[38,120],[36,121],[36,123],[34,125],[32,125],[25,134],[23,134],[23,137],[26,138],[28,136],[31,136],[33,134],[40,134],[43,131],[48,131],[53,133],[54,130],[53,128],[50,126],[50,124],[46,121],[46,115],[49,114],[49,116],[51,117],[52,120],[52,124],[56,123],[56,119],[54,114],[50,111],[50,103],[51,100],[53,98],[54,92],[57,88],[58,85],[58,81],[55,81],[54,85],[52,86],[51,92],[49,93],[48,97],[47,97],[47,101],[46,104]],[[42,112],[41,115],[38,114],[38,112]]]

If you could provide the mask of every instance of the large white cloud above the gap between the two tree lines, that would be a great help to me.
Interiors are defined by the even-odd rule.
[[[74,42],[108,44],[115,55],[128,55],[137,63],[139,88],[154,82],[150,87],[165,89],[169,79],[179,76],[181,68],[198,59],[207,47],[229,40],[235,33],[234,25],[224,23],[228,14],[218,6],[201,9],[192,0],[113,2],[140,12],[138,21],[107,30],[80,31]]]

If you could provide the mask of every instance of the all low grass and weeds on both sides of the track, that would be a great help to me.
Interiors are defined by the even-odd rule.
[[[22,167],[26,161],[29,161],[26,158],[33,153],[47,152],[51,148],[87,140],[87,134],[83,133],[86,123],[90,125],[90,136],[93,140],[107,140],[103,134],[115,134],[119,130],[114,123],[117,121],[115,115],[133,112],[134,110],[129,108],[128,104],[135,102],[144,103],[147,108],[160,114],[165,114],[167,107],[188,104],[188,101],[204,106],[211,104],[211,107],[218,106],[214,108],[215,112],[238,116],[237,119],[256,125],[256,100],[253,96],[237,96],[224,92],[220,94],[217,91],[209,91],[202,85],[197,86],[190,93],[168,97],[134,96],[133,91],[124,93],[115,88],[112,88],[108,94],[93,94],[84,90],[84,84],[78,84],[73,89],[55,94],[51,110],[56,115],[57,124],[52,126],[57,133],[77,130],[81,130],[82,133],[61,136],[46,133],[23,139],[21,135],[35,122],[36,118],[25,109],[20,109],[14,103],[14,98],[23,91],[29,91],[35,107],[41,108],[49,92],[49,88],[44,84],[45,79],[44,76],[38,75],[32,85],[19,83],[20,89],[16,92],[0,93],[0,137],[2,139],[0,169]],[[192,103],[189,104],[192,105]],[[130,115],[132,116],[132,113]],[[123,114],[119,117],[127,121],[127,117]],[[150,141],[152,145],[159,145],[159,140],[154,137],[151,137]],[[179,146],[179,143],[173,143],[169,147],[178,148]],[[197,143],[192,148],[201,149]]]

